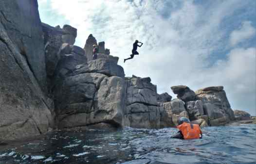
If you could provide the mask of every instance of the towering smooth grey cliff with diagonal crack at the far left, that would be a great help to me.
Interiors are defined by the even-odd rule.
[[[0,1],[0,139],[53,128],[37,7],[35,0]]]

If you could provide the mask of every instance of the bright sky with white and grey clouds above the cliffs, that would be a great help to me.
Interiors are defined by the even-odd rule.
[[[38,0],[41,21],[105,41],[126,76],[150,77],[158,93],[224,86],[233,110],[256,115],[256,0]],[[138,39],[139,55],[124,63]]]

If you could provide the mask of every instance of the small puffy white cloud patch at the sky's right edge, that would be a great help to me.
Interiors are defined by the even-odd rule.
[[[241,28],[234,30],[230,35],[231,46],[245,41],[246,39],[252,38],[256,34],[256,29],[252,26],[251,21],[244,21]]]

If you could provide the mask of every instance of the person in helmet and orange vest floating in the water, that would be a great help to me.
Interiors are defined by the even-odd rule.
[[[185,140],[202,138],[202,131],[200,126],[197,124],[191,124],[190,120],[186,117],[181,117],[179,119],[179,125],[177,128],[180,131],[172,135],[171,138],[179,138]]]

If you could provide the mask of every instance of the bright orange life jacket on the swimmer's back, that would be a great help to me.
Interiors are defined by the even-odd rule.
[[[200,126],[197,124],[190,124],[183,122],[183,124],[177,126],[177,128],[182,131],[183,138],[187,139],[198,139],[200,134],[202,134]]]

